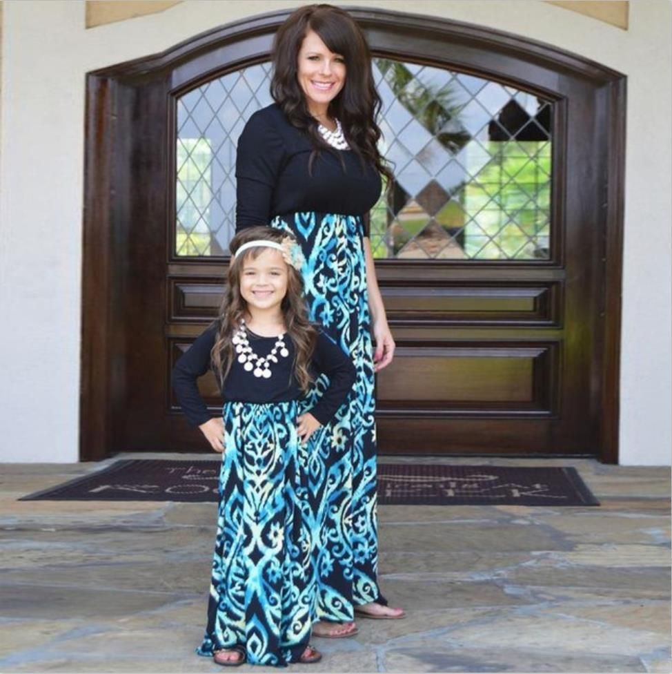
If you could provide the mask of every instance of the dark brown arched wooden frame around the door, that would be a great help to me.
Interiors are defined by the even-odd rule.
[[[424,39],[441,39],[446,44],[442,61],[474,75],[491,70],[481,64],[483,52],[496,53],[502,62],[498,79],[524,83],[520,68],[506,75],[507,59],[524,60],[530,70],[543,66],[571,73],[600,92],[606,182],[600,194],[600,241],[603,305],[597,321],[595,353],[601,354],[594,387],[599,399],[599,458],[617,463],[619,423],[620,321],[622,284],[622,240],[624,216],[625,92],[621,73],[577,55],[506,32],[481,28],[439,17],[411,15],[389,10],[348,10],[366,32],[375,55],[391,55],[381,45],[403,44],[403,55],[422,62],[426,55],[415,44]],[[165,52],[128,61],[89,73],[86,83],[86,133],[84,162],[82,334],[80,441],[81,461],[104,459],[115,450],[113,423],[115,400],[123,391],[123,321],[119,296],[125,292],[118,270],[124,260],[123,228],[115,227],[125,215],[125,204],[115,199],[124,180],[119,166],[119,147],[128,142],[120,133],[120,119],[132,115],[132,89],[148,76],[181,70],[188,78],[201,55],[219,52],[227,70],[243,68],[268,57],[270,39],[290,12],[273,12],[251,17],[197,35]],[[244,44],[244,50],[239,47]],[[435,61],[436,59],[433,59]],[[482,65],[482,68],[480,66]],[[222,68],[218,68],[222,70]],[[217,73],[199,73],[193,86]],[[168,77],[168,75],[166,75]],[[132,120],[130,120],[132,122]],[[117,360],[115,360],[117,359]],[[115,396],[115,392],[117,395]]]

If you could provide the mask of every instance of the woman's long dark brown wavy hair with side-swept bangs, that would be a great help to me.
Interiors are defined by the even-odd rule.
[[[387,179],[392,171],[378,151],[381,136],[376,118],[381,100],[373,84],[371,55],[362,30],[348,12],[333,5],[300,7],[280,26],[273,41],[273,79],[270,95],[282,108],[293,126],[308,133],[316,152],[310,157],[310,166],[317,151],[335,153],[317,131],[317,119],[310,115],[306,97],[297,81],[297,59],[304,37],[313,30],[330,51],[345,59],[345,84],[330,102],[329,117],[339,119],[350,148],[362,160],[362,168],[369,162]],[[339,155],[337,155],[339,156]]]

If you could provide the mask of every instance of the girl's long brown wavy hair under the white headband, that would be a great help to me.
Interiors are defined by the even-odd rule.
[[[281,243],[289,236],[288,233],[272,227],[249,227],[244,229],[231,240],[231,263],[228,267],[224,297],[219,308],[217,318],[217,336],[215,345],[210,352],[215,374],[219,382],[223,383],[230,372],[235,351],[233,348],[233,334],[240,325],[242,318],[247,313],[247,303],[240,293],[240,275],[243,271],[244,262],[248,258],[255,260],[264,247],[254,247],[243,251],[236,256],[236,251],[245,243],[255,239],[265,239]],[[308,309],[304,299],[304,280],[296,269],[287,265],[288,282],[287,294],[282,300],[281,311],[284,318],[287,334],[295,347],[294,374],[299,383],[299,388],[306,392],[313,378],[310,376],[310,358],[315,351],[317,331],[308,320]]]

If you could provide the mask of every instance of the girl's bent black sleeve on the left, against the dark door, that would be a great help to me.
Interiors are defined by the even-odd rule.
[[[215,345],[216,334],[217,324],[213,323],[180,356],[172,368],[172,388],[182,412],[192,426],[199,426],[210,420],[210,412],[198,392],[196,381],[210,369],[210,351]]]

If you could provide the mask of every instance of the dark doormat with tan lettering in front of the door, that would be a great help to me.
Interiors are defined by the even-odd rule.
[[[116,461],[19,501],[217,501],[219,461]],[[575,468],[379,463],[381,505],[600,505]]]

